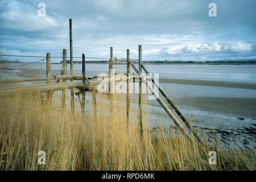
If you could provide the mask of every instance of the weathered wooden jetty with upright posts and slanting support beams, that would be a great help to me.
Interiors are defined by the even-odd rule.
[[[73,43],[72,43],[72,20],[69,19],[69,46],[70,46],[70,55],[71,55],[71,70],[70,75],[66,75],[67,73],[67,50],[63,49],[63,67],[59,73],[55,76],[51,76],[51,55],[50,53],[46,54],[46,77],[43,78],[24,78],[24,79],[15,79],[15,80],[0,80],[0,84],[7,83],[15,83],[15,82],[26,82],[26,81],[46,81],[46,84],[41,85],[31,85],[31,86],[16,86],[16,87],[4,87],[0,88],[0,98],[3,97],[12,97],[17,94],[27,94],[31,92],[40,92],[46,93],[47,101],[51,101],[52,95],[55,91],[62,91],[62,107],[65,107],[65,97],[66,90],[71,90],[71,111],[74,112],[74,97],[75,97],[75,88],[80,91],[76,93],[76,96],[79,97],[79,102],[81,104],[81,111],[84,113],[85,111],[85,92],[92,92],[93,96],[93,112],[94,119],[97,119],[97,111],[96,111],[96,93],[99,93],[96,89],[98,84],[108,84],[108,98],[110,100],[110,119],[113,117],[113,85],[115,82],[126,81],[127,82],[127,93],[126,93],[126,121],[129,123],[130,118],[130,94],[129,93],[129,83],[135,82],[135,78],[139,79],[139,110],[138,110],[138,122],[140,127],[140,133],[143,137],[143,125],[142,125],[142,82],[147,86],[148,90],[153,94],[156,100],[159,102],[160,106],[166,111],[166,113],[170,116],[170,119],[175,123],[175,125],[179,128],[179,130],[185,135],[185,137],[189,139],[193,139],[195,137],[201,144],[203,142],[199,138],[199,136],[192,130],[191,125],[185,119],[184,115],[181,114],[180,110],[177,109],[175,104],[171,101],[170,97],[167,96],[166,92],[162,89],[159,83],[150,76],[150,72],[146,69],[145,65],[142,63],[142,45],[139,45],[139,68],[135,66],[133,60],[130,59],[130,50],[127,49],[126,56],[126,76],[123,77],[112,77],[111,75],[113,70],[113,47],[110,47],[110,59],[109,59],[109,74],[108,77],[98,77],[98,76],[86,76],[85,73],[85,55],[82,53],[82,75],[73,75]],[[130,73],[130,66],[134,69],[136,73]],[[146,76],[142,74],[142,71],[146,73]],[[55,83],[51,83],[51,80],[55,80]],[[159,96],[158,92],[156,92],[150,82],[148,80],[152,80],[154,86],[159,90],[160,94],[162,94],[164,100],[168,102],[168,105],[164,103],[163,99]],[[62,81],[62,82],[60,82]],[[100,93],[99,93],[100,94]]]

